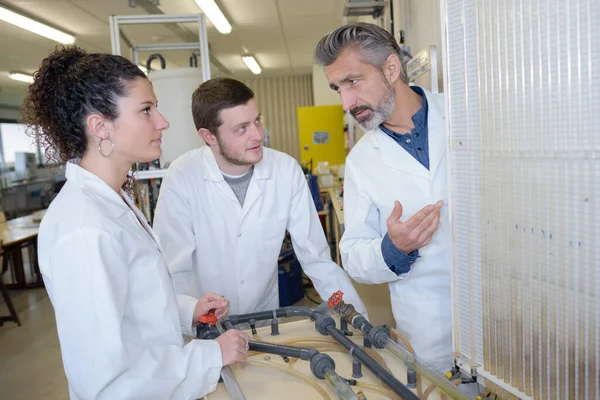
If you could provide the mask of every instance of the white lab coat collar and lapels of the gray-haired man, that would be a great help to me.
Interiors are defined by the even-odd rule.
[[[407,173],[432,179],[446,151],[446,124],[444,117],[444,102],[440,96],[433,96],[423,89],[427,96],[429,110],[427,114],[429,141],[429,170],[425,168],[407,151],[402,149],[391,137],[380,128],[373,130],[371,145],[379,149],[385,165]],[[401,151],[399,151],[401,150]]]

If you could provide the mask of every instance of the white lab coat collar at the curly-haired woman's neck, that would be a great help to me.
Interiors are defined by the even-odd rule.
[[[106,209],[115,217],[121,217],[128,212],[129,207],[121,199],[121,196],[128,196],[127,193],[121,189],[121,196],[119,196],[98,175],[81,168],[79,161],[79,159],[73,159],[67,162],[67,170],[65,172],[67,180],[102,200],[107,205]]]

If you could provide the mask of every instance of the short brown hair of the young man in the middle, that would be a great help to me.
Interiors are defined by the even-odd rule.
[[[204,82],[192,94],[192,116],[196,130],[208,129],[213,135],[223,121],[221,111],[248,103],[254,92],[240,81],[214,78]]]

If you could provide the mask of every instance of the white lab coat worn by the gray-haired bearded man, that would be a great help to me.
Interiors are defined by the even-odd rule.
[[[346,230],[340,250],[344,268],[356,281],[389,282],[397,328],[406,335],[417,356],[446,372],[452,366],[452,324],[444,98],[425,93],[429,104],[430,169],[381,129],[368,132],[346,160]],[[420,258],[411,271],[401,276],[387,267],[381,254],[394,200],[402,203],[403,222],[426,205],[444,201],[431,242],[419,250]]]

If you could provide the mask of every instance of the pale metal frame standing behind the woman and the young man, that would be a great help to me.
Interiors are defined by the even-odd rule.
[[[160,51],[160,50],[195,50],[200,51],[200,65],[202,69],[202,80],[210,79],[210,60],[208,56],[208,34],[206,31],[206,17],[204,14],[196,15],[112,15],[110,17],[110,44],[112,53],[121,55],[121,37],[127,43],[131,50],[132,61],[138,63],[139,51]],[[164,43],[164,44],[142,44],[133,45],[132,41],[121,31],[121,25],[141,25],[141,24],[178,24],[178,23],[198,23],[199,41],[196,43]]]

